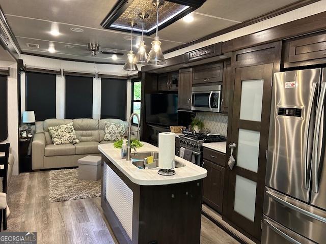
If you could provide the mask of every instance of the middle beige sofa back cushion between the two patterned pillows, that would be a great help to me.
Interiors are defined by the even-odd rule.
[[[73,120],[73,127],[80,142],[99,142],[98,119],[76,118]]]

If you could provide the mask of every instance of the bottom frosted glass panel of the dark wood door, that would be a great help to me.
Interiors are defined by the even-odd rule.
[[[254,222],[257,183],[237,175],[235,178],[234,211]]]

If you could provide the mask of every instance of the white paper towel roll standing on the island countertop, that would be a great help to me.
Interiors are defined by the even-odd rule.
[[[175,133],[158,134],[158,167],[171,169],[175,160]]]

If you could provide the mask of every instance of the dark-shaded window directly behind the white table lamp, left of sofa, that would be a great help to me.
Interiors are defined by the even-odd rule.
[[[26,111],[34,111],[36,121],[56,118],[56,81],[53,74],[26,72]]]

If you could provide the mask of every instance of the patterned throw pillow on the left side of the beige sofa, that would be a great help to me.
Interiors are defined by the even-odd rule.
[[[66,125],[51,126],[49,127],[49,133],[52,137],[53,145],[75,144],[79,142],[72,122]]]

